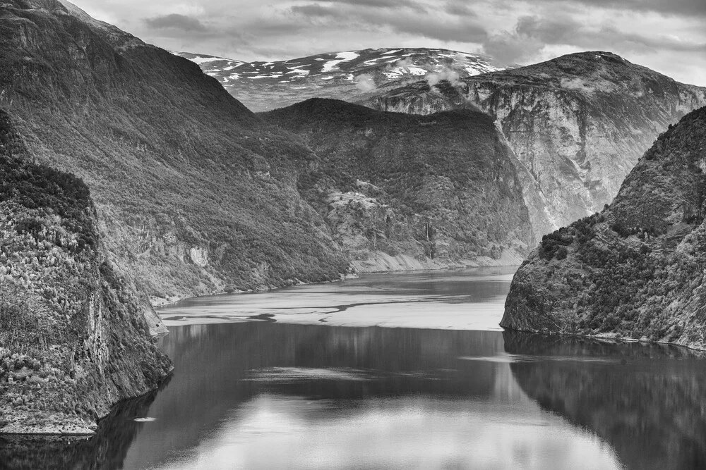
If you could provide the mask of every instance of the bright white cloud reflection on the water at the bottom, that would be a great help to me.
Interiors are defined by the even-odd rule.
[[[620,469],[595,435],[531,402],[431,397],[366,401],[260,395],[161,469]]]

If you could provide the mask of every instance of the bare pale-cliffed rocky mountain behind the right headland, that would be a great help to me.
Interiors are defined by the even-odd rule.
[[[532,221],[556,230],[611,202],[657,134],[706,104],[706,89],[615,54],[584,52],[435,86],[381,89],[361,103],[489,113],[529,175],[523,187]]]

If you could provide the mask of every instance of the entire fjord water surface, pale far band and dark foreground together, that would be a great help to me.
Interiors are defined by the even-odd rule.
[[[0,469],[706,468],[700,354],[503,332],[510,274],[164,309],[176,371],[162,390],[90,440],[0,438]]]

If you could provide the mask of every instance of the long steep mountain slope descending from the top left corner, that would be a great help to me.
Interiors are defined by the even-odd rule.
[[[309,149],[196,64],[68,2],[0,8],[0,108],[32,158],[90,187],[116,269],[155,301],[347,270],[297,193]]]

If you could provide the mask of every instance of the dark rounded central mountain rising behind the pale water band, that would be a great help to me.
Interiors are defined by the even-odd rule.
[[[309,99],[262,116],[318,156],[299,190],[359,271],[515,264],[534,246],[512,151],[484,113]]]

